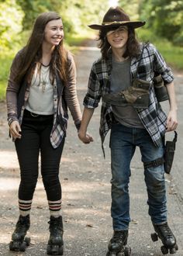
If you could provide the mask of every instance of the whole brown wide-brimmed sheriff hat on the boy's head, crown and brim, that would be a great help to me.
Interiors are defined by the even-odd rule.
[[[110,7],[105,13],[102,24],[91,24],[91,29],[110,29],[118,26],[131,26],[134,29],[145,25],[146,22],[130,21],[129,16],[119,6]]]

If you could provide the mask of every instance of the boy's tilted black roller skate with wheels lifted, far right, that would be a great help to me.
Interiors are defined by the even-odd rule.
[[[162,243],[164,244],[161,246],[162,254],[175,254],[178,251],[178,244],[176,244],[176,239],[174,234],[171,232],[170,227],[168,227],[167,223],[162,225],[155,225],[154,230],[156,233],[151,234],[151,239],[155,242],[158,240],[158,237],[161,239]]]

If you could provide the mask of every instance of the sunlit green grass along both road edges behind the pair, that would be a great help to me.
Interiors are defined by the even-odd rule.
[[[154,43],[154,45],[163,55],[165,61],[167,61],[171,67],[183,71],[183,47],[173,46],[167,40],[157,38],[157,36],[147,30],[141,29],[138,30],[137,33],[140,40],[150,40],[151,43]],[[93,38],[93,34],[88,32],[84,32],[82,35],[67,34],[64,40],[64,45],[68,50],[71,50],[73,54],[76,54],[78,46],[85,45],[86,40],[91,37]],[[21,48],[21,46],[19,48]],[[0,52],[0,100],[5,99],[5,90],[9,76],[9,68],[12,64],[12,59],[16,52],[17,47],[15,52],[8,50]]]

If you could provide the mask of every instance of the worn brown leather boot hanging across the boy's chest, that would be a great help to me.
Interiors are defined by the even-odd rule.
[[[147,109],[149,106],[150,82],[139,78],[133,80],[133,83],[126,90],[117,93],[108,93],[102,96],[106,103],[116,106],[132,105],[136,109]]]

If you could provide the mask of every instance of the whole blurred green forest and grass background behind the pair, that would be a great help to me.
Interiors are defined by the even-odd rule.
[[[183,70],[183,1],[177,0],[0,0],[0,100],[12,58],[25,45],[33,22],[41,12],[59,12],[65,45],[74,51],[95,33],[88,24],[101,23],[111,5],[121,6],[131,20],[145,20],[136,29],[140,40],[154,43],[171,67]]]

